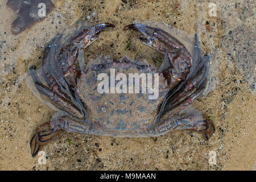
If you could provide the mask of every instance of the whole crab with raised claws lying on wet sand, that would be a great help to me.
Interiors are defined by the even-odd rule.
[[[60,130],[112,137],[157,137],[174,130],[193,130],[208,139],[214,132],[212,121],[179,114],[201,96],[207,83],[209,56],[201,57],[197,34],[192,60],[184,45],[166,31],[130,24],[124,30],[141,32],[144,44],[166,55],[161,69],[126,57],[89,61],[84,68],[85,48],[108,27],[115,26],[109,23],[88,26],[80,22],[71,35],[55,36],[44,50],[45,84],[39,79],[36,67],[30,67],[39,92],[65,113],[36,129],[30,142],[32,156]],[[113,69],[115,75],[158,74],[159,97],[149,100],[150,93],[123,93],[122,90],[119,93],[97,92],[97,76],[110,75]]]

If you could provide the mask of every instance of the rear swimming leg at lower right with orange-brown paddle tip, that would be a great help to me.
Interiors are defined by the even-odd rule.
[[[214,133],[215,128],[210,119],[195,117],[193,115],[185,115],[182,117],[176,115],[174,118],[166,119],[166,121],[161,122],[159,126],[155,127],[155,132],[158,135],[163,135],[173,130],[192,130],[201,132],[204,134],[205,139],[208,140],[210,135]]]

